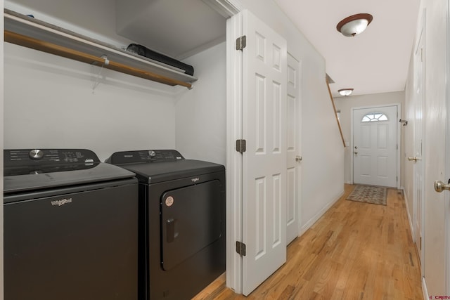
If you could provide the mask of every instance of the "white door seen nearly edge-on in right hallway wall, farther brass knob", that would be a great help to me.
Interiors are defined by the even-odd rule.
[[[422,265],[422,228],[423,228],[423,51],[424,51],[424,39],[423,34],[420,34],[418,47],[414,54],[414,110],[415,119],[414,124],[414,153],[412,157],[408,157],[410,162],[414,163],[414,179],[413,179],[413,227],[414,227],[414,240],[418,251],[420,265]],[[423,272],[423,268],[421,268]]]

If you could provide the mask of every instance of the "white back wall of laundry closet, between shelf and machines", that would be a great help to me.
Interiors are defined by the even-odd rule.
[[[172,97],[151,81],[5,44],[5,148],[174,148]]]

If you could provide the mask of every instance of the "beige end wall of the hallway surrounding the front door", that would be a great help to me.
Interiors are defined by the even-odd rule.
[[[375,93],[371,95],[359,95],[359,96],[347,96],[347,97],[337,97],[335,98],[336,110],[340,110],[340,124],[342,128],[342,134],[345,140],[345,182],[353,183],[353,178],[351,178],[351,164],[352,164],[352,149],[350,142],[352,140],[352,107],[365,107],[365,106],[376,106],[376,105],[389,105],[389,104],[404,104],[405,93],[404,91],[397,91],[392,93]],[[404,117],[399,117],[403,118]],[[402,132],[404,127],[402,127]],[[409,126],[406,129],[410,129]],[[401,152],[402,153],[402,152]],[[404,157],[403,153],[401,157]],[[403,176],[400,176],[401,178]]]

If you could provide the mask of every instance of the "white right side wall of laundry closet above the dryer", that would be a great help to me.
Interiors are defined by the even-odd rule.
[[[226,44],[184,60],[198,81],[176,100],[176,149],[186,158],[226,164]]]

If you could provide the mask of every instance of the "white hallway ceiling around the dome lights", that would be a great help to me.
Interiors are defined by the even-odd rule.
[[[333,97],[404,91],[420,0],[274,0],[326,60]],[[356,13],[373,21],[356,37],[336,25]]]

